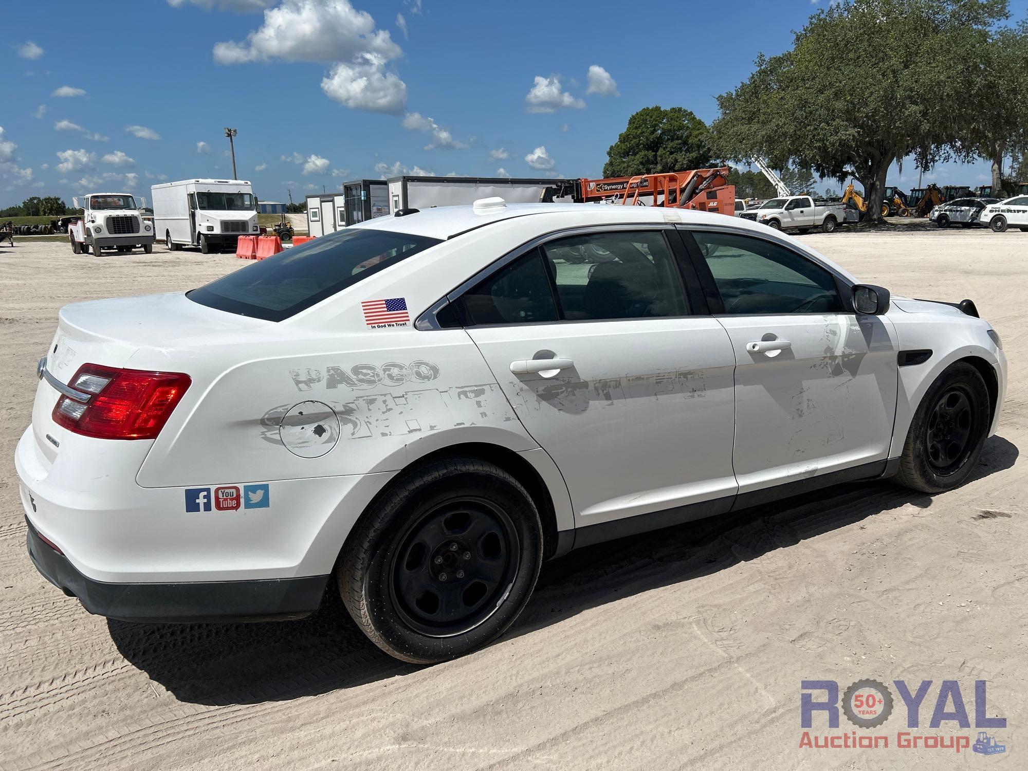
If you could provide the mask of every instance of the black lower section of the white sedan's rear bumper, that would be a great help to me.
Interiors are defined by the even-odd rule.
[[[276,621],[309,616],[321,604],[328,576],[253,581],[114,584],[82,575],[43,542],[26,517],[29,557],[36,570],[89,613],[121,621],[196,623]]]

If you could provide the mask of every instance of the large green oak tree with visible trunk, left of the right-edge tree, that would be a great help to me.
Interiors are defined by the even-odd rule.
[[[962,145],[987,100],[981,66],[1005,0],[848,0],[814,13],[793,48],[757,60],[718,98],[713,151],[792,163],[821,177],[855,177],[868,216],[880,219],[889,166],[914,155],[928,168]]]

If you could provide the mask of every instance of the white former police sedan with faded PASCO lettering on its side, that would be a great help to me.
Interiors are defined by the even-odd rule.
[[[999,336],[678,209],[401,210],[188,292],[61,310],[15,456],[39,572],[130,621],[339,592],[412,662],[545,559],[842,481],[962,483]]]

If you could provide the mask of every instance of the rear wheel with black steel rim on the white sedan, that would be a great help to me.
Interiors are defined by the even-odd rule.
[[[514,477],[443,458],[401,476],[358,522],[339,593],[378,648],[434,664],[503,634],[528,601],[542,554],[539,512]]]

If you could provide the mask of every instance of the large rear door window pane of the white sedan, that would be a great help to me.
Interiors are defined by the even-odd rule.
[[[660,230],[573,235],[542,249],[568,321],[689,313],[674,256]]]

